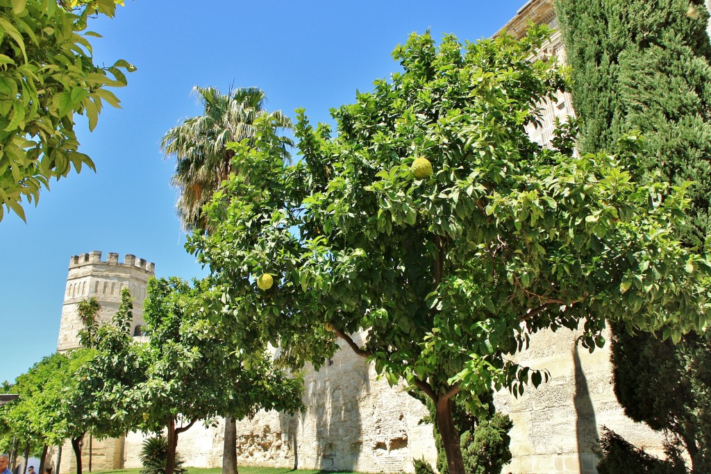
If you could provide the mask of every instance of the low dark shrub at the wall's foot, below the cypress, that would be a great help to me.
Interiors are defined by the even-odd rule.
[[[599,474],[685,474],[683,462],[675,467],[669,460],[651,456],[628,443],[619,434],[603,427],[600,439],[602,458],[597,465]]]

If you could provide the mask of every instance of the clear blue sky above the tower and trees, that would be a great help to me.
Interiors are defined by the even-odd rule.
[[[96,62],[123,58],[138,70],[114,90],[123,108],[105,109],[95,131],[77,119],[80,151],[97,173],[51,183],[26,209],[27,223],[0,222],[0,381],[55,352],[70,256],[130,253],[155,262],[157,276],[203,274],[183,249],[173,162],[159,146],[168,129],[201,113],[194,85],[261,87],[267,109],[293,118],[304,107],[312,122],[328,122],[328,109],[397,70],[390,53],[413,31],[476,41],[524,3],[127,0],[116,18],[90,21],[104,36],[90,38]]]

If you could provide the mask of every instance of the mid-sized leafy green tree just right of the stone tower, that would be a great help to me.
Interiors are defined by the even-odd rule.
[[[209,291],[178,278],[151,279],[144,318],[149,343],[146,380],[137,384],[143,431],[167,429],[166,474],[175,470],[180,433],[199,420],[228,414],[242,419],[259,409],[299,411],[303,382],[272,367],[264,352],[232,345],[218,318],[208,321]],[[236,469],[236,466],[235,466]]]

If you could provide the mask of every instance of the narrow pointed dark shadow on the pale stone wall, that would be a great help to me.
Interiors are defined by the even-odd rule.
[[[575,394],[573,402],[575,406],[575,435],[577,438],[578,462],[581,474],[597,474],[597,456],[593,449],[599,446],[600,440],[597,436],[597,421],[595,419],[595,409],[590,399],[590,392],[587,385],[587,378],[582,370],[578,345],[575,344],[573,350],[573,363],[575,370]]]

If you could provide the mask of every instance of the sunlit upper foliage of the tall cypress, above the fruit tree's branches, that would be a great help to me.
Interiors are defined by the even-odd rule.
[[[582,151],[641,130],[639,173],[693,181],[687,242],[711,233],[711,44],[702,0],[556,1]]]

